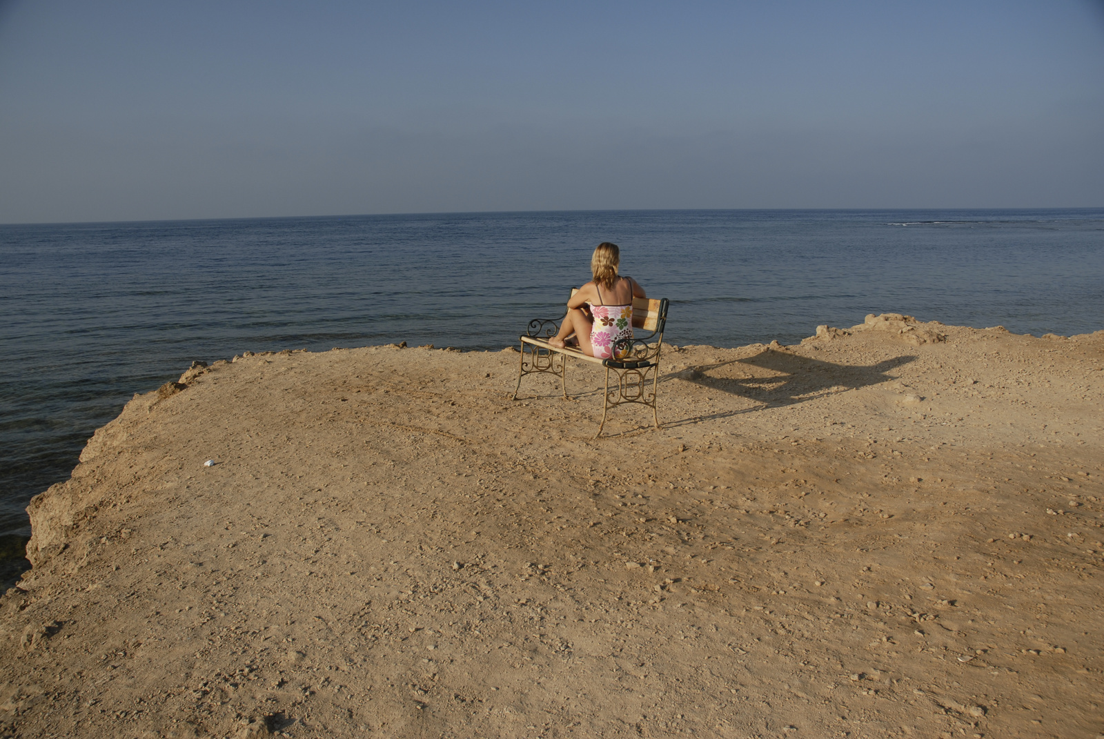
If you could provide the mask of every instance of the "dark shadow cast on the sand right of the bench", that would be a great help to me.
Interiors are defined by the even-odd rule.
[[[879,384],[896,379],[889,372],[915,360],[914,355],[902,355],[874,365],[838,365],[767,348],[753,357],[690,367],[681,372],[664,376],[659,380],[660,384],[672,380],[693,382],[756,404],[667,421],[664,425],[680,426],[732,418]]]

